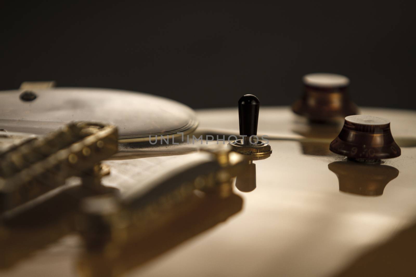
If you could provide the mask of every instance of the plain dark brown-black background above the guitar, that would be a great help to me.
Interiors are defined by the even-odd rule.
[[[119,88],[192,108],[253,93],[289,105],[301,77],[348,76],[361,106],[415,109],[411,1],[1,2],[1,90]]]

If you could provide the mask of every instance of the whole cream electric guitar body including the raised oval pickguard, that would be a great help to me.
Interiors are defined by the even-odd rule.
[[[361,115],[388,119],[400,147],[393,148],[401,149],[399,157],[362,162],[375,155],[371,147],[359,159],[329,149],[344,118],[323,123],[290,107],[262,106],[257,134],[272,152],[248,159],[228,146],[230,136],[240,135],[237,108],[194,112],[146,94],[53,88],[38,90],[35,101],[24,103],[20,93],[0,93],[7,98],[2,105],[19,106],[1,112],[0,127],[9,134],[42,137],[70,121],[104,121],[118,127],[118,150],[100,162],[109,172],[100,177],[99,193],[85,185],[85,175],[72,174],[62,186],[5,208],[1,276],[412,272],[414,111],[360,108]],[[101,138],[97,147],[99,141],[107,145]],[[87,157],[90,150],[84,149]],[[77,166],[80,157],[69,154],[69,164]]]

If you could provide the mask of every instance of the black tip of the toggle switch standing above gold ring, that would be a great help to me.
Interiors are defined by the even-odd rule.
[[[246,135],[245,144],[252,135],[257,135],[260,101],[253,94],[246,94],[238,100],[238,118],[240,135]]]

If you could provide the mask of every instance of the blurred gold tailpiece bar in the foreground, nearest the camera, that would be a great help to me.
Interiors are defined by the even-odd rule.
[[[87,246],[101,248],[142,238],[172,221],[179,211],[187,211],[193,203],[189,199],[195,195],[228,198],[233,195],[233,178],[246,169],[244,157],[226,149],[206,150],[183,159],[190,164],[176,165],[125,196],[85,199],[81,231]]]

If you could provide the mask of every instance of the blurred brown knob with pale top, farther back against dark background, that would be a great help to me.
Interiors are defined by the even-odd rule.
[[[357,105],[349,100],[349,79],[329,73],[314,73],[303,76],[305,92],[293,103],[293,112],[312,121],[331,121],[356,115]]]

